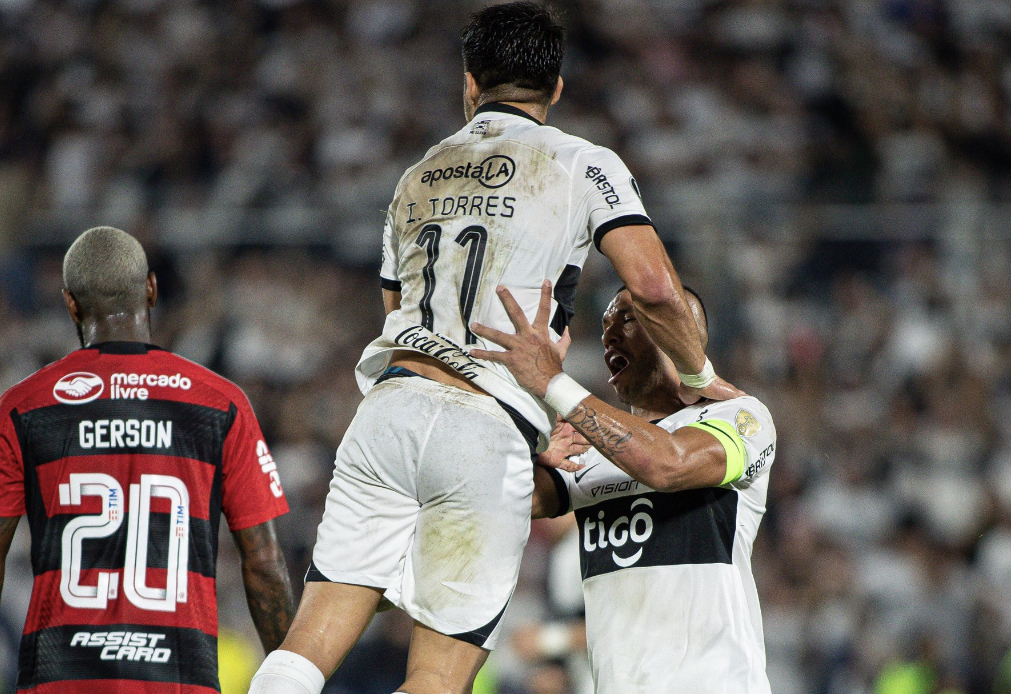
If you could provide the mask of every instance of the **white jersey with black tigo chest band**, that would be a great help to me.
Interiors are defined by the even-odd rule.
[[[751,547],[775,427],[751,397],[688,407],[658,425],[711,419],[733,425],[747,450],[744,474],[724,487],[654,492],[596,450],[578,472],[552,470],[579,525],[596,694],[769,692]]]

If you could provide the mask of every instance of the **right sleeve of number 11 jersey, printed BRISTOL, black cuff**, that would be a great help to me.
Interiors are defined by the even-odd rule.
[[[601,250],[601,240],[620,227],[650,225],[639,185],[625,162],[611,150],[587,148],[576,160],[575,188],[586,210],[587,232]]]

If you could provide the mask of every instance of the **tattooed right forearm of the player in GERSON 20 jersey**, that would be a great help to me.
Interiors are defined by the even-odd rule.
[[[284,640],[295,614],[295,597],[274,522],[237,530],[232,535],[242,556],[250,615],[264,652],[270,653]]]

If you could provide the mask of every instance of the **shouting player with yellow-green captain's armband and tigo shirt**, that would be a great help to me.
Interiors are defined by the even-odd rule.
[[[509,348],[484,356],[557,398],[552,388],[571,379],[545,330],[547,295],[534,327],[502,296],[518,335],[475,327]],[[705,310],[688,300],[706,344]],[[569,383],[571,404],[556,406],[595,449],[568,471],[539,466],[533,504],[534,517],[575,511],[595,691],[768,694],[751,547],[775,456],[771,416],[748,396],[685,407],[625,289],[604,315],[603,341],[632,412]]]

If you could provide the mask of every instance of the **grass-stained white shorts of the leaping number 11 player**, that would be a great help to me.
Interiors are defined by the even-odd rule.
[[[382,588],[426,626],[493,648],[530,534],[531,451],[489,396],[380,382],[337,450],[306,581]]]

